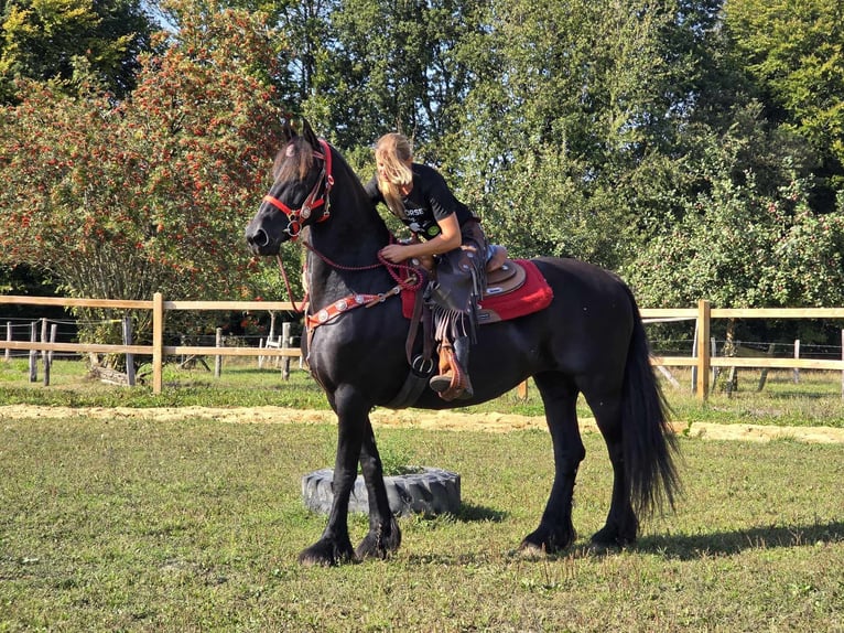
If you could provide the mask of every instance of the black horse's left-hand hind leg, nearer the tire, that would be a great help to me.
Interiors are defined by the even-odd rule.
[[[577,469],[586,449],[577,427],[577,388],[562,374],[538,374],[533,378],[554,447],[554,483],[539,527],[524,537],[519,549],[528,555],[555,554],[576,538],[572,502]]]

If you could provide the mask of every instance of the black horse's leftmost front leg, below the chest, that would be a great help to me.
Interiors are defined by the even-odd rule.
[[[334,405],[337,412],[337,457],[332,482],[332,509],[328,524],[314,545],[299,555],[303,565],[332,566],[355,559],[355,550],[348,533],[348,506],[351,489],[357,479],[357,464],[368,425],[367,408],[355,404],[356,398],[338,398]]]

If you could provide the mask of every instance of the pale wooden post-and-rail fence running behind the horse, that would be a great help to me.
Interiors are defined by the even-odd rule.
[[[64,308],[84,307],[111,310],[152,310],[151,345],[106,345],[91,343],[51,343],[1,341],[0,348],[28,350],[42,352],[76,352],[99,354],[140,354],[152,356],[152,389],[162,390],[162,367],[164,358],[173,355],[197,356],[294,356],[299,350],[274,347],[212,347],[208,345],[164,345],[164,319],[170,310],[191,311],[289,311],[293,304],[286,301],[164,301],[156,292],[152,301],[123,301],[111,299],[68,299],[52,297],[0,296],[0,304],[19,305],[58,305]],[[653,365],[662,367],[692,367],[696,375],[695,393],[700,399],[706,399],[710,393],[710,374],[713,367],[761,367],[788,369],[829,369],[844,373],[844,334],[842,335],[843,355],[841,360],[813,358],[771,358],[771,357],[722,357],[713,356],[710,350],[710,335],[713,319],[837,319],[844,320],[844,308],[761,308],[733,309],[712,308],[702,300],[697,308],[651,308],[641,309],[646,321],[690,320],[695,321],[696,351],[691,356],[654,356]],[[844,374],[842,374],[844,376]],[[843,378],[844,380],[844,378]]]

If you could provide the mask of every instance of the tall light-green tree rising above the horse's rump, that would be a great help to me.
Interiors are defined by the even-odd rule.
[[[478,81],[451,139],[465,157],[455,171],[516,253],[623,260],[677,125],[666,51],[674,9],[493,2],[462,42]]]

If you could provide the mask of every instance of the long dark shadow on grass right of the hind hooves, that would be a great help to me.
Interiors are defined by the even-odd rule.
[[[694,536],[654,535],[639,539],[636,549],[653,551],[666,558],[693,560],[706,556],[728,556],[748,549],[801,547],[816,543],[841,541],[844,541],[844,523],[832,522],[783,527],[751,527]]]

